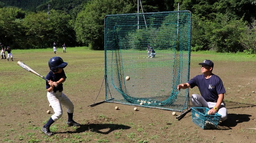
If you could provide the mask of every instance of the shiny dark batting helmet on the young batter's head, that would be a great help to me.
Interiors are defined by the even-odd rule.
[[[68,63],[64,62],[61,57],[52,57],[49,60],[48,65],[52,72],[58,72],[58,68],[64,68]]]

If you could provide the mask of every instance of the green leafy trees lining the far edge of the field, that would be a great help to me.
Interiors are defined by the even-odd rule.
[[[65,1],[65,0],[64,0]],[[104,17],[137,13],[137,0],[75,0],[38,4],[37,11],[0,8],[0,42],[12,49],[36,49],[66,43],[104,49]],[[256,53],[256,4],[248,0],[141,0],[144,12],[189,10],[193,51]],[[50,3],[50,5],[52,5]],[[140,8],[140,12],[142,9]]]

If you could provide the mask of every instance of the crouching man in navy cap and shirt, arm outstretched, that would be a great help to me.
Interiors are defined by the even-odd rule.
[[[179,84],[177,88],[180,90],[197,86],[201,95],[192,94],[190,100],[193,106],[209,108],[206,113],[209,115],[219,114],[221,116],[220,121],[225,121],[228,118],[228,113],[224,102],[224,94],[226,93],[226,90],[223,82],[219,76],[212,73],[214,67],[212,61],[204,60],[202,63],[199,63],[199,65],[202,74],[194,76],[187,83]],[[200,115],[198,114],[198,116]]]

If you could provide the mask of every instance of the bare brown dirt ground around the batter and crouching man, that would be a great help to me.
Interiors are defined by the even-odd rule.
[[[191,63],[190,78],[200,74],[198,61]],[[52,125],[54,136],[46,137],[40,131],[52,114],[46,114],[48,107],[46,92],[24,97],[24,91],[10,98],[16,98],[1,108],[0,141],[2,142],[110,142],[110,143],[255,143],[256,142],[256,72],[252,62],[215,62],[214,74],[220,76],[226,88],[228,119],[219,123],[214,130],[203,130],[192,123],[191,112],[180,121],[172,112],[151,108],[102,103],[90,107],[105,98],[102,78],[87,77],[76,87],[65,87],[65,94],[75,105],[74,120],[81,127],[68,127],[67,115]],[[104,73],[102,72],[102,75]],[[68,84],[68,80],[66,81]],[[94,90],[87,87],[94,86]],[[198,93],[191,89],[190,94]],[[40,96],[40,98],[38,98]],[[95,101],[96,97],[97,100]],[[20,101],[23,101],[22,104]],[[4,104],[2,101],[1,104]],[[115,110],[115,106],[119,110]],[[66,110],[64,108],[64,110]],[[177,113],[178,115],[180,113]]]

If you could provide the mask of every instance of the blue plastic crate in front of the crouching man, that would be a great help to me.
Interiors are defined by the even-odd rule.
[[[192,122],[202,129],[215,129],[218,126],[221,115],[215,113],[208,115],[209,108],[192,107]]]

